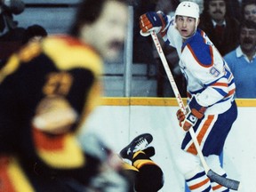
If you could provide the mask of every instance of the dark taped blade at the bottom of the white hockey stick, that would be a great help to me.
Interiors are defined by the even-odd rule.
[[[216,172],[213,172],[212,170],[209,170],[207,172],[207,176],[219,183],[220,185],[226,187],[226,188],[231,188],[233,190],[238,190],[239,188],[239,185],[240,185],[240,182],[237,181],[237,180],[231,180],[231,179],[228,179],[228,178],[225,178],[225,177],[221,177],[219,174],[217,174]]]

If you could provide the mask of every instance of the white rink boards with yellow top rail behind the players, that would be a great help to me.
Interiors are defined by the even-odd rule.
[[[153,135],[156,148],[153,160],[164,171],[162,192],[184,192],[182,175],[175,166],[184,132],[176,119],[175,99],[103,98],[100,107],[84,125],[96,132],[116,153],[143,132]],[[185,100],[184,100],[185,101]],[[254,192],[256,172],[256,100],[236,100],[238,118],[228,135],[223,152],[223,166],[228,177],[240,180],[239,192]]]

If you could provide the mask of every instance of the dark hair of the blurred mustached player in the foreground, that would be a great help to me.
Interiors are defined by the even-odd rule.
[[[126,0],[82,0],[77,6],[75,20],[69,31],[71,36],[78,36],[79,28],[84,24],[92,24],[100,17],[104,4],[116,1],[127,4]]]

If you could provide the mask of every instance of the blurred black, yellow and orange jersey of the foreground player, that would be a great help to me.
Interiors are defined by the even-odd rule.
[[[28,170],[84,169],[76,132],[100,98],[101,72],[98,53],[70,36],[13,54],[0,71],[0,155],[19,156]]]

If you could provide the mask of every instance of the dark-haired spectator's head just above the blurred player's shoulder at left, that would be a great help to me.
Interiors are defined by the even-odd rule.
[[[45,36],[48,36],[45,28],[40,25],[32,25],[26,28],[21,43],[28,44],[28,42],[41,41]]]

